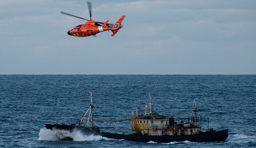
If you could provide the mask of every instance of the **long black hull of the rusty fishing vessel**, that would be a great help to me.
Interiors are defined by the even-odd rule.
[[[159,143],[169,143],[172,141],[191,141],[191,142],[208,142],[208,141],[225,141],[228,138],[228,129],[221,131],[207,131],[201,132],[198,135],[176,135],[176,136],[139,136],[139,135],[127,135],[127,134],[112,134],[107,132],[95,132],[90,130],[88,127],[83,126],[70,126],[70,125],[45,125],[47,129],[53,130],[82,130],[85,134],[94,134],[107,137],[109,139],[125,139],[130,141],[154,141]],[[68,139],[60,140],[73,140],[71,137]]]

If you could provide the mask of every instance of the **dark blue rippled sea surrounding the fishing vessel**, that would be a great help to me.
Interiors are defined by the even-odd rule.
[[[132,112],[190,115],[194,99],[202,130],[229,129],[224,142],[149,143],[72,133],[58,141],[44,124],[78,123],[90,106],[101,131],[132,133]],[[256,75],[0,75],[0,146],[15,148],[256,147]]]

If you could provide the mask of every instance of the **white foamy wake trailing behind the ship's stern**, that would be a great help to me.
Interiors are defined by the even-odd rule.
[[[247,136],[244,134],[235,134],[228,136],[227,139],[229,142],[233,143],[244,143],[244,142],[256,142],[256,136]]]

